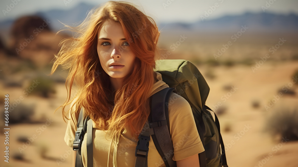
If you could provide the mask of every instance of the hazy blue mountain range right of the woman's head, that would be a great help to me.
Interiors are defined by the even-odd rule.
[[[204,31],[228,31],[239,29],[239,27],[246,25],[253,27],[253,31],[297,31],[298,30],[298,16],[296,14],[277,15],[273,13],[251,13],[246,12],[242,15],[226,15],[216,19],[200,19],[191,24],[171,23],[166,27],[180,27],[189,30],[204,30]],[[160,26],[165,26],[161,24]]]

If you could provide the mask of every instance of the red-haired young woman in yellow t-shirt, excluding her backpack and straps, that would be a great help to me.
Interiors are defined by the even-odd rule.
[[[69,27],[69,26],[67,26]],[[62,105],[69,118],[65,142],[73,147],[80,109],[93,124],[93,166],[133,167],[138,136],[150,113],[149,98],[169,87],[155,72],[158,27],[133,4],[108,1],[92,10],[74,38],[63,41],[51,74],[58,65],[70,68],[66,80],[68,98]],[[77,92],[72,95],[75,84]],[[72,97],[72,98],[71,98]],[[169,104],[173,160],[178,167],[199,166],[204,151],[187,100],[176,93]],[[65,106],[71,108],[64,111]],[[183,111],[183,112],[182,112]],[[87,166],[86,135],[81,155]],[[76,151],[74,151],[73,165]],[[148,167],[165,166],[153,140],[149,141]]]

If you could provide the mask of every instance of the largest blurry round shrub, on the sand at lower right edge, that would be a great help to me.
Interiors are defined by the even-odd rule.
[[[289,141],[298,140],[298,106],[295,108],[278,107],[265,121],[264,130],[273,138],[286,137]]]

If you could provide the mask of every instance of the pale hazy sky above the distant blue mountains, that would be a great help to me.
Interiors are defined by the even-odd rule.
[[[225,14],[241,14],[246,11],[263,12],[262,6],[267,7],[265,12],[296,13],[298,14],[298,0],[128,0],[142,6],[147,15],[157,22],[165,21],[197,21],[204,16],[205,11],[211,13],[207,19],[216,18]],[[14,5],[13,2],[16,4]],[[0,21],[7,18],[16,18],[24,14],[51,9],[70,9],[83,0],[7,0],[0,2]],[[101,4],[105,0],[86,0],[89,4]],[[215,3],[217,7],[215,7]],[[12,7],[10,11],[7,5]],[[270,5],[270,6],[269,6]],[[213,6],[213,7],[212,7]],[[5,12],[6,11],[6,12]],[[5,16],[4,16],[5,14]]]

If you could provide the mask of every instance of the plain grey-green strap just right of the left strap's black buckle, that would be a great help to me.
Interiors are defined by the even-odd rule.
[[[93,167],[92,120],[87,122],[87,167]]]

